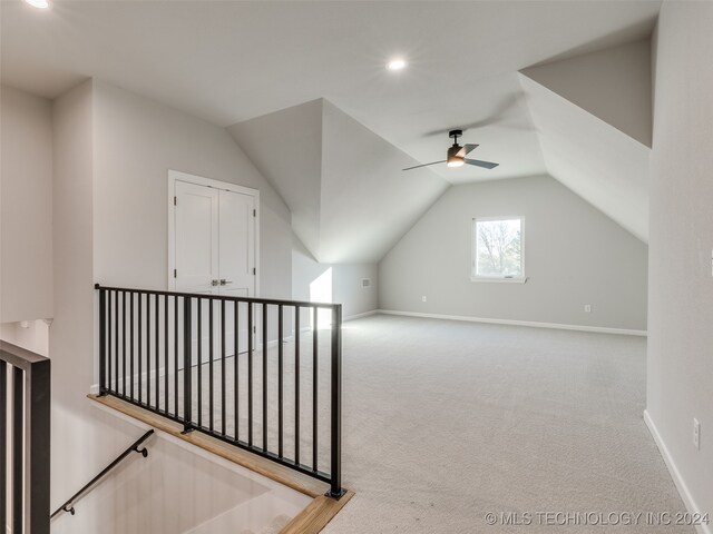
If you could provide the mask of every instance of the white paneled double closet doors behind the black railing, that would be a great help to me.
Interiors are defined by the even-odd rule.
[[[175,217],[175,289],[183,293],[255,296],[256,196],[229,189],[176,180]],[[225,303],[225,317],[219,300],[202,301],[195,309],[193,324],[201,314],[202,360],[207,362],[209,316],[213,306],[213,357],[235,354],[235,307]],[[238,352],[247,349],[247,305],[238,306]],[[225,337],[222,326],[225,325]],[[194,329],[196,326],[194,326]],[[195,330],[197,332],[197,330]],[[198,336],[194,335],[193,359],[197,362]]]

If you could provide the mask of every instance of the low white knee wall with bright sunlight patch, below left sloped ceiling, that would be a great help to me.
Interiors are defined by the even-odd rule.
[[[362,287],[362,278],[371,280],[370,287]],[[378,308],[377,264],[320,264],[294,236],[292,298],[324,301],[314,293],[315,289],[318,289],[318,295],[320,293],[318,288],[320,283],[316,281],[319,279],[329,285],[330,301],[342,305],[343,318],[373,312]]]

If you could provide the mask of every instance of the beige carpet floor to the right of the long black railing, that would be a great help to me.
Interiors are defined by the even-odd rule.
[[[641,337],[346,323],[344,485],[356,495],[325,534],[693,532],[646,524],[684,506],[642,421],[645,353]],[[611,513],[644,515],[614,526],[627,516]],[[609,526],[573,524],[585,517]]]

